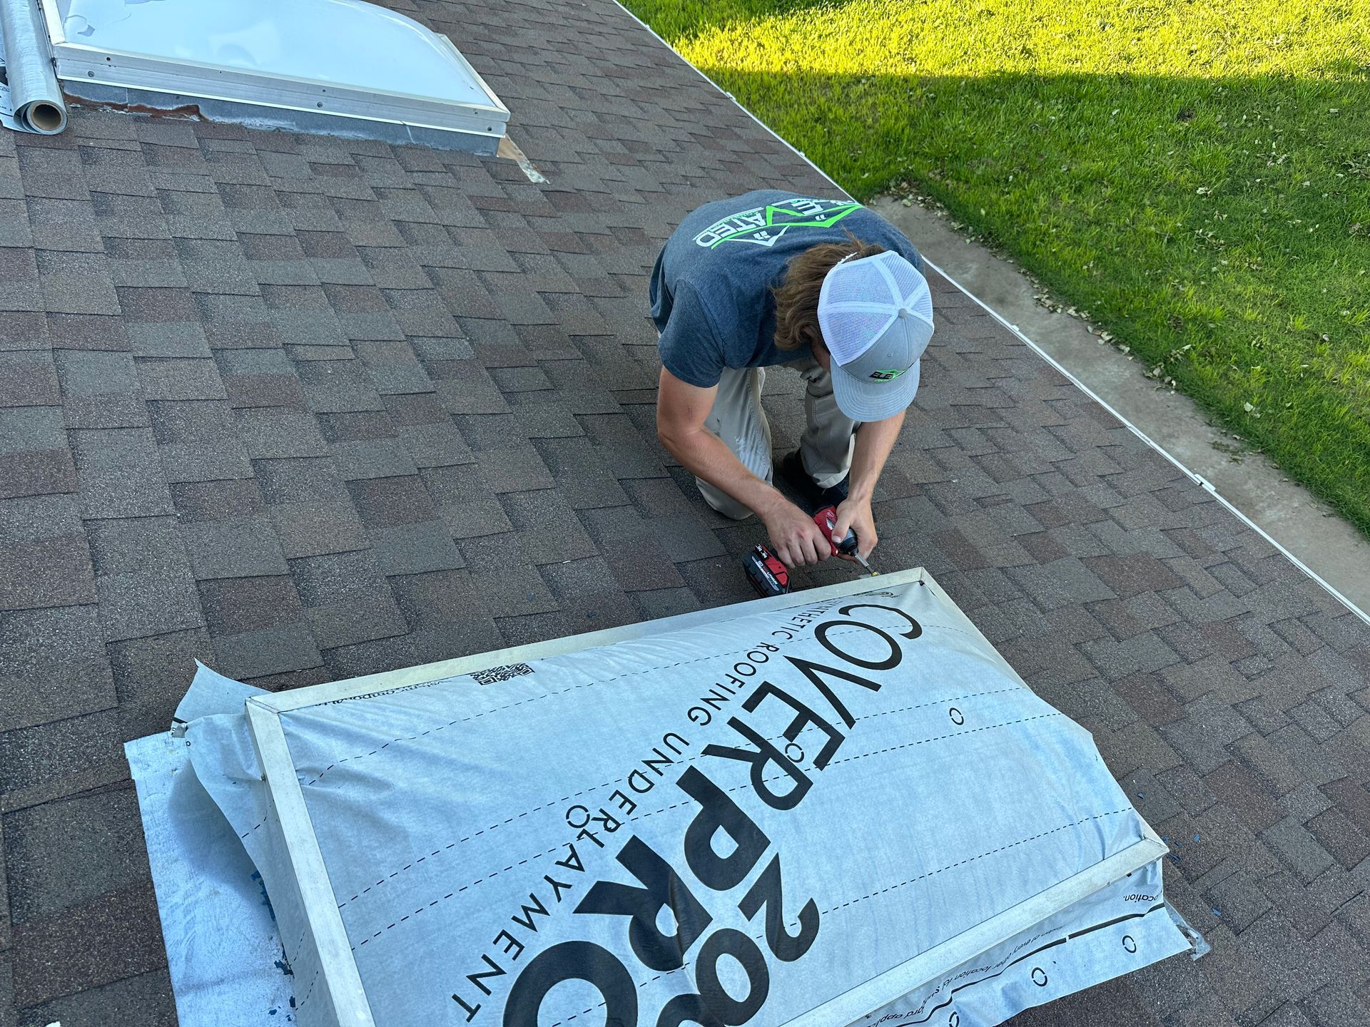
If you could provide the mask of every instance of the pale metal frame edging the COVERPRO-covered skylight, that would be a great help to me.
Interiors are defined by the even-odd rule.
[[[854,578],[852,581],[811,589],[803,593],[774,596],[747,603],[748,612],[766,612],[804,607],[829,598],[862,596],[881,590],[882,586],[919,583],[927,587],[940,603],[944,612],[954,618],[963,630],[985,642],[997,656],[997,650],[980,633],[974,623],[947,596],[922,567],[881,575],[878,579]],[[696,627],[733,616],[730,607],[678,613],[660,620],[645,620],[623,624],[603,631],[592,631],[566,638],[552,638],[532,645],[497,649],[488,653],[463,656],[453,660],[410,667],[404,670],[370,674],[362,678],[312,685],[278,694],[258,696],[247,701],[248,727],[258,757],[262,761],[269,793],[269,830],[286,854],[286,861],[295,871],[300,900],[304,909],[308,937],[319,954],[325,978],[325,990],[332,1002],[334,1022],[338,1027],[375,1027],[375,1016],[362,985],[360,972],[352,954],[352,945],[338,912],[337,897],[329,880],[322,849],[314,833],[304,791],[290,759],[289,742],[281,724],[281,715],[307,707],[342,700],[360,698],[377,692],[418,685],[443,678],[456,678],[486,667],[559,656],[614,645],[644,635]],[[1003,667],[1015,678],[1017,672],[999,657]],[[1019,678],[1021,681],[1021,678]],[[1143,837],[1126,849],[1114,853],[1100,863],[1085,868],[1074,876],[1056,882],[1051,887],[1032,896],[1018,905],[1006,909],[988,920],[948,938],[933,948],[918,953],[908,961],[891,968],[877,979],[867,980],[844,994],[834,996],[814,1009],[790,1020],[784,1027],[841,1027],[897,998],[886,994],[892,983],[907,994],[933,980],[949,967],[974,959],[982,952],[1028,930],[1048,916],[1066,909],[1095,894],[1107,885],[1133,874],[1162,859],[1169,846],[1156,835],[1144,817],[1138,816]]]

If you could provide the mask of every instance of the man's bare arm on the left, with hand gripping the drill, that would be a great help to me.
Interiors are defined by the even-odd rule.
[[[786,566],[826,559],[832,550],[818,524],[780,489],[748,471],[723,440],[704,427],[717,393],[717,386],[689,385],[663,367],[656,393],[656,437],[686,471],[755,512],[766,524],[775,556]]]

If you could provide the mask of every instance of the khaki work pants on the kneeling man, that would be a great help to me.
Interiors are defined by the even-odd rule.
[[[833,398],[833,378],[812,357],[784,364],[799,371],[807,385],[804,390],[804,435],[799,444],[800,459],[818,486],[837,485],[851,470],[856,422],[837,409]],[[723,440],[743,466],[758,478],[770,482],[771,434],[766,411],[762,409],[762,385],[766,368],[725,368],[718,382],[714,408],[704,427]],[[704,501],[723,516],[743,520],[752,515],[747,507],[703,478],[696,478]]]

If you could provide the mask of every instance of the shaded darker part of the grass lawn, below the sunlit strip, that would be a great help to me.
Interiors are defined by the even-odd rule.
[[[859,199],[944,203],[1370,531],[1370,70],[703,70]]]

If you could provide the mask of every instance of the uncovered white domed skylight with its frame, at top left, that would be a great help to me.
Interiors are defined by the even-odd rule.
[[[362,0],[41,3],[73,96],[341,134],[388,123],[477,152],[495,152],[508,121],[451,40]]]

